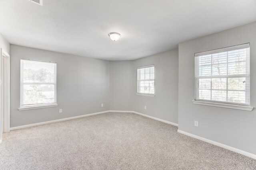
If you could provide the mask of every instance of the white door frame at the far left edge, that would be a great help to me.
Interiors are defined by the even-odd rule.
[[[1,49],[2,132],[10,131],[10,55]]]

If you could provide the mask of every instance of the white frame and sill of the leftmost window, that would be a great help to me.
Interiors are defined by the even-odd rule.
[[[46,83],[46,82],[33,82],[33,83],[24,83],[23,82],[23,62],[22,60],[28,60],[28,61],[37,61],[37,62],[44,62],[44,63],[54,63],[54,82],[53,83]],[[52,84],[54,85],[54,102],[53,103],[46,103],[46,104],[32,104],[32,105],[22,105],[23,104],[23,86],[25,84]],[[30,60],[30,59],[20,59],[20,108],[18,108],[19,111],[22,110],[30,110],[30,109],[41,109],[46,107],[56,107],[57,104],[57,63],[51,62],[51,61],[38,61],[38,60]]]

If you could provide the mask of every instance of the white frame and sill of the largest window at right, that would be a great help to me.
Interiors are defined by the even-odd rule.
[[[196,60],[196,57],[202,56],[202,55],[212,55],[212,54],[215,54],[215,53],[233,51],[233,50],[236,50],[236,49],[244,49],[244,48],[250,48],[250,43],[246,43],[246,44],[242,44],[242,45],[236,45],[236,46],[232,46],[232,47],[225,47],[225,48],[222,48],[222,49],[215,49],[215,50],[195,53],[195,60]],[[250,60],[246,61],[246,67],[250,68]],[[196,66],[195,66],[195,74],[196,74]],[[202,78],[221,78],[221,77],[224,77],[224,78],[246,77],[246,82],[250,82],[250,71],[249,71],[249,74],[239,75],[239,76],[237,76],[237,75],[235,75],[235,76],[231,76],[231,75],[230,76],[228,76],[228,75],[226,75],[226,76],[203,76]],[[241,109],[241,110],[252,111],[253,107],[250,107],[250,84],[249,84],[249,89],[245,90],[246,98],[249,100],[249,104],[238,104],[238,103],[232,103],[232,102],[220,102],[220,101],[213,101],[213,100],[198,99],[198,96],[197,96],[197,93],[196,93],[196,90],[199,90],[199,87],[196,88],[196,86],[199,86],[198,80],[199,80],[199,78],[196,77],[196,75],[195,75],[195,77],[194,77],[195,98],[192,101],[194,104],[207,105],[207,106],[216,106],[216,107],[226,107],[226,108],[232,108],[232,109]],[[212,89],[212,86],[211,86],[211,89]]]

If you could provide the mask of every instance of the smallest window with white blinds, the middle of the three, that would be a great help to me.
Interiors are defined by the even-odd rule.
[[[154,96],[154,65],[137,68],[137,94]]]

